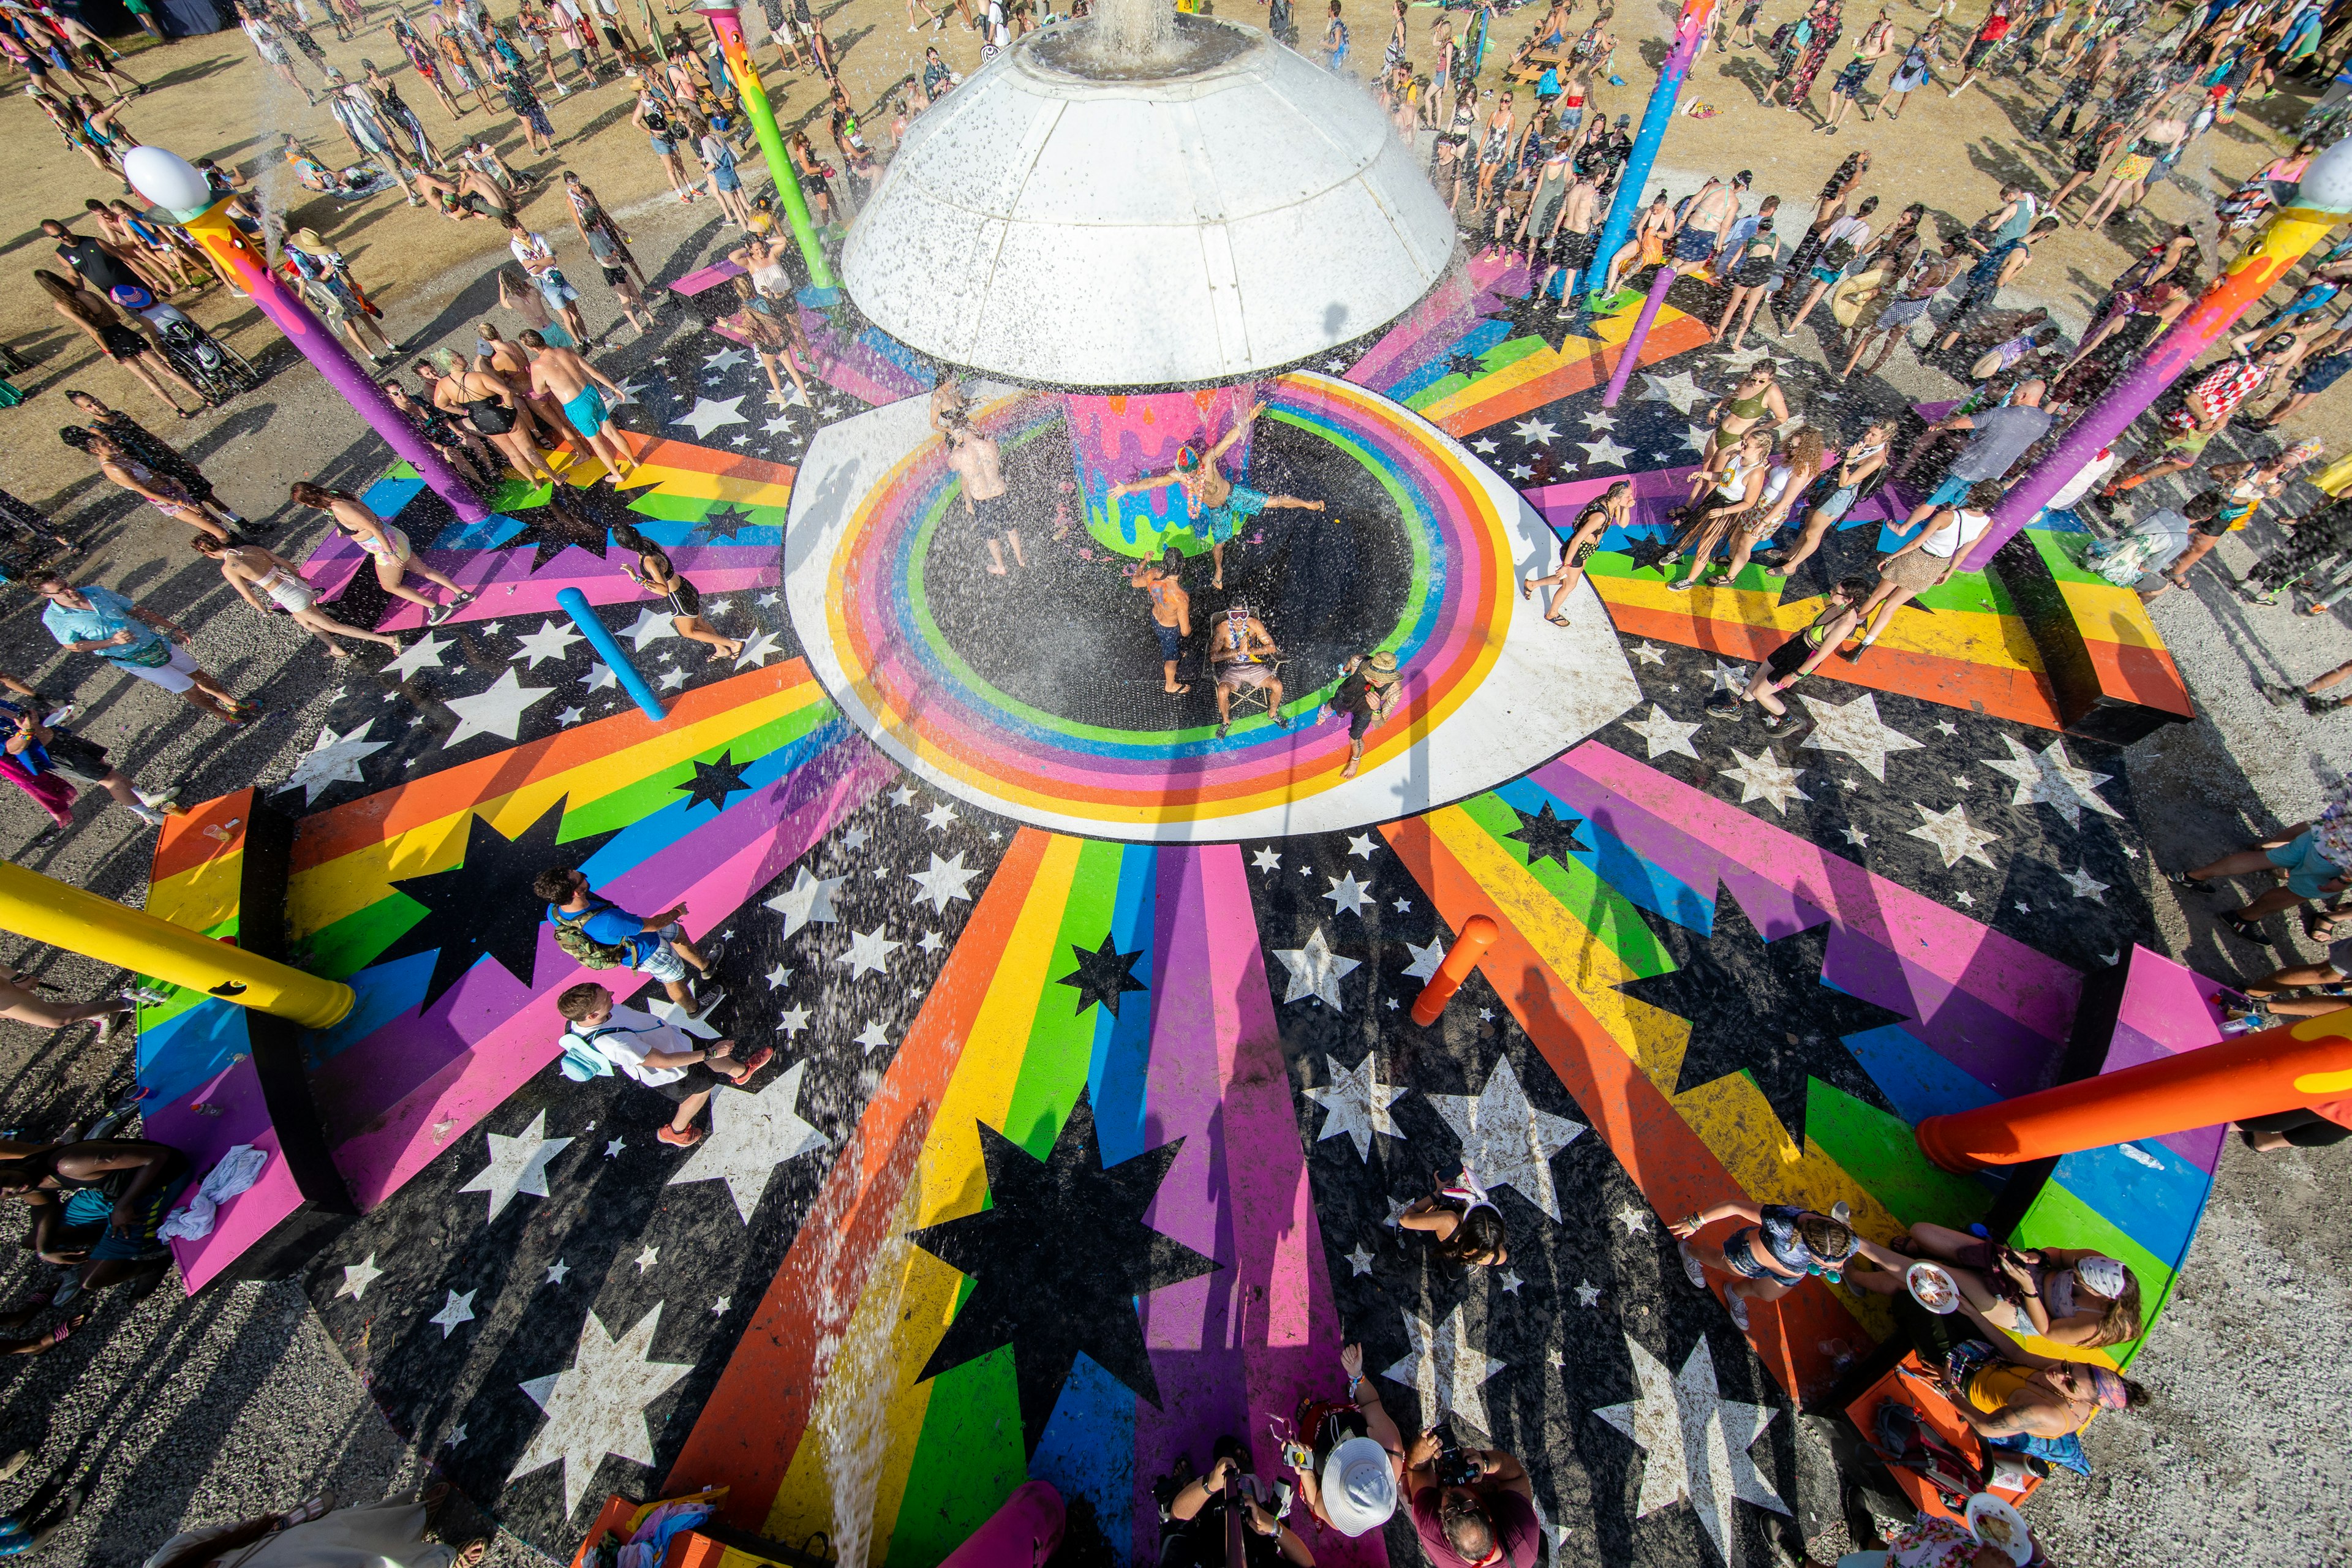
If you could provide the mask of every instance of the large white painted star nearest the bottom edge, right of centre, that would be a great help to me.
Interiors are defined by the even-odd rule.
[[[1722,1396],[1715,1382],[1715,1352],[1705,1335],[1698,1335],[1679,1373],[1668,1373],[1665,1363],[1632,1335],[1625,1335],[1625,1349],[1632,1352],[1632,1375],[1642,1396],[1632,1403],[1602,1406],[1595,1415],[1642,1448],[1642,1500],[1635,1502],[1635,1516],[1646,1519],[1689,1500],[1715,1542],[1715,1554],[1736,1563],[1733,1500],[1788,1514],[1788,1502],[1748,1453],[1776,1410]]]

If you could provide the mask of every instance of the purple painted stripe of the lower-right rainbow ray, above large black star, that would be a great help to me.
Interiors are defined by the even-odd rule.
[[[1910,1013],[1933,1051],[2004,1095],[2044,1084],[2082,999],[2065,964],[1597,741],[1536,783],[1668,875],[1726,879],[1766,933],[1835,919],[1835,985]]]

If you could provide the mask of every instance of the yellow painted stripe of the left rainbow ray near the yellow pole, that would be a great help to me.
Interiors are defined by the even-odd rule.
[[[358,914],[367,905],[386,898],[393,891],[395,877],[421,877],[426,872],[440,872],[454,867],[463,860],[468,818],[480,813],[499,832],[515,837],[541,816],[548,806],[569,797],[572,809],[586,806],[588,802],[604,799],[616,790],[626,790],[649,773],[677,766],[689,757],[699,757],[715,745],[783,719],[809,703],[823,703],[826,691],[816,682],[800,682],[783,691],[755,698],[741,708],[729,708],[727,712],[701,719],[699,724],[684,724],[680,729],[663,729],[637,745],[630,745],[609,757],[597,757],[579,766],[564,769],[560,773],[548,773],[546,778],[534,778],[517,785],[506,795],[494,795],[468,811],[452,811],[447,816],[433,818],[430,823],[419,823],[405,832],[397,832],[379,844],[358,849],[348,856],[336,856],[325,865],[313,865],[308,870],[294,872],[287,884],[287,919],[296,936],[308,936],[310,931],[322,931],[339,919]]]

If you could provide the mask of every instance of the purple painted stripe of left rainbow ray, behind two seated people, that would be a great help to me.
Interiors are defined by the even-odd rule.
[[[779,820],[771,832],[760,835],[715,863],[699,849],[663,853],[628,877],[616,879],[614,889],[628,898],[661,898],[666,903],[694,905],[694,914],[687,917],[689,929],[708,931],[722,924],[776,870],[807,853],[809,844],[830,832],[842,816],[861,806],[896,776],[896,769],[863,741],[844,741],[835,750],[847,748],[856,748],[856,762],[826,778],[814,797]],[[689,839],[687,844],[694,842]],[[687,844],[675,849],[687,849]],[[494,1027],[475,1037],[463,1056],[445,1063],[440,1072],[388,1105],[365,1133],[336,1145],[336,1166],[341,1166],[362,1211],[374,1208],[397,1192],[449,1147],[452,1140],[470,1133],[482,1117],[503,1105],[534,1072],[555,1060],[557,1027],[553,999],[567,985],[586,978],[588,971],[560,961],[546,964],[548,952],[553,952],[550,943],[541,947],[543,961],[539,973],[548,976],[546,985],[532,992],[513,987],[517,994],[510,1009]],[[612,985],[614,971],[597,971],[597,978]],[[414,1020],[414,1013],[405,1018]],[[374,1037],[336,1056],[332,1067],[358,1058],[369,1044],[374,1044]],[[440,1124],[447,1124],[447,1128],[435,1135],[433,1128]]]

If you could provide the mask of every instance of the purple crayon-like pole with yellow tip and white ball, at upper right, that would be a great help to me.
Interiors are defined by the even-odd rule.
[[[1992,510],[1992,527],[1976,543],[1966,567],[1980,571],[1994,550],[2042,515],[2058,487],[2079,475],[2100,447],[2129,430],[2131,421],[2145,414],[2147,404],[2213,346],[2213,339],[2230,331],[2237,317],[2286,275],[2286,268],[2296,266],[2347,216],[2352,216],[2352,136],[2312,160],[2293,200],[2279,209],[2263,237],[2206,287],[2197,308],[2183,315],[2138,364],[2114,378],[2107,395],[2058,437],[2049,456],[2009,487],[2009,496]]]

